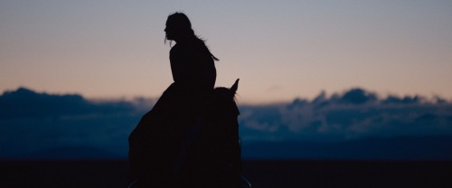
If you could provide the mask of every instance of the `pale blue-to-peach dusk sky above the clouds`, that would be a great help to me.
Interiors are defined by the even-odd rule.
[[[0,90],[158,97],[168,14],[207,40],[241,102],[362,87],[452,98],[452,1],[1,1]]]

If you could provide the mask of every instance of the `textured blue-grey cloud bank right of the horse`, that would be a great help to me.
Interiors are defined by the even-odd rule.
[[[246,139],[341,141],[381,136],[452,135],[452,104],[419,96],[380,99],[365,89],[350,89],[291,103],[244,106]]]

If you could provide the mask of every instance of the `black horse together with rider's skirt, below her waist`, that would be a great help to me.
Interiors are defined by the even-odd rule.
[[[238,85],[236,80],[231,89],[213,89],[202,116],[180,101],[169,107],[157,102],[129,136],[129,187],[246,185],[240,176]]]

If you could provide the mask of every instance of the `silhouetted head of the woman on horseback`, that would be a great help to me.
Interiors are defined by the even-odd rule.
[[[167,40],[176,42],[194,36],[192,24],[188,17],[183,13],[177,12],[168,16],[165,33]]]

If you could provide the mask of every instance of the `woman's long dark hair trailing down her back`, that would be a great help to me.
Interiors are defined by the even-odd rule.
[[[185,15],[184,13],[175,12],[174,14],[170,14],[170,15],[168,15],[166,22],[167,23],[171,22],[171,23],[177,25],[178,26],[177,28],[179,29],[180,33],[193,37],[194,39],[198,40],[199,42],[202,42],[202,44],[204,46],[206,46],[205,41],[202,40],[202,38],[199,37],[198,35],[194,34],[194,31],[192,29],[192,23],[190,22],[190,19],[188,19],[188,16]],[[168,41],[168,39],[165,36],[165,43],[166,43],[166,41]],[[170,46],[171,46],[171,42],[172,41],[170,40]],[[207,46],[206,46],[206,48],[207,48]],[[212,59],[214,61],[220,61],[218,58],[216,58],[212,54],[212,52],[209,50],[209,48],[207,48],[207,51],[210,53],[210,55],[212,56]]]

